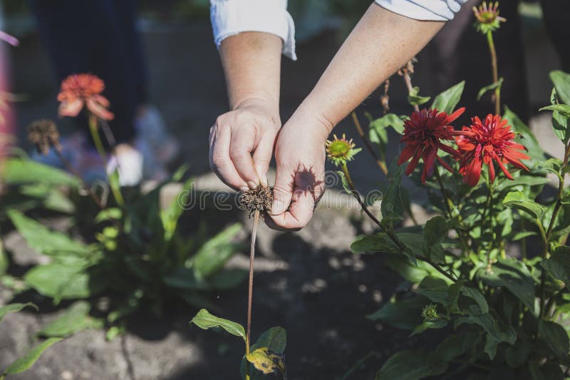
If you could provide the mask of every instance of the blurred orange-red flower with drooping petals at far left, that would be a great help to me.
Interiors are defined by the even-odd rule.
[[[59,115],[77,116],[83,106],[103,120],[111,120],[115,117],[108,111],[109,101],[101,95],[105,88],[103,82],[92,74],[73,74],[63,79],[61,91],[58,94]]]

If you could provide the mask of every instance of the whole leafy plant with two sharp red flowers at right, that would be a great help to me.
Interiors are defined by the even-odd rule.
[[[493,28],[479,30],[494,48],[492,33],[504,20],[494,4],[477,11],[487,12],[485,22]],[[502,82],[496,75],[496,52],[491,56],[494,83],[499,84],[482,91],[494,91],[498,110]],[[404,120],[403,130],[395,127],[406,146],[398,163],[389,166],[381,217],[355,191],[348,160],[336,157],[348,191],[378,227],[351,249],[383,253],[387,265],[408,282],[408,292],[395,294],[368,318],[413,335],[430,329],[447,334],[435,350],[391,356],[376,379],[448,379],[457,374],[485,379],[499,371],[509,378],[567,376],[570,193],[564,185],[570,171],[570,98],[564,94],[570,93],[570,75],[553,71],[550,77],[551,105],[542,110],[553,113],[554,132],[565,147],[562,160],[549,158],[506,106],[503,115],[497,111],[472,118],[462,130],[452,128],[464,83],[437,95],[428,110],[420,111],[410,98],[415,112]],[[404,79],[410,93],[417,94],[409,78]],[[397,124],[384,120],[398,119],[388,114],[371,120],[370,136],[381,136],[385,132],[379,128]],[[387,138],[371,140],[380,151],[385,149]],[[420,163],[423,170],[418,170]],[[408,197],[398,190],[404,171],[427,191],[426,206],[437,213],[423,226],[399,227],[403,213],[410,212]],[[548,174],[558,180],[554,195],[545,187]],[[520,255],[514,257],[517,249]]]

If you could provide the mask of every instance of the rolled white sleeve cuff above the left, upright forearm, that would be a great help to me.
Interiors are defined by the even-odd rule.
[[[210,0],[216,46],[242,31],[263,31],[283,40],[283,53],[296,61],[295,25],[287,0]]]

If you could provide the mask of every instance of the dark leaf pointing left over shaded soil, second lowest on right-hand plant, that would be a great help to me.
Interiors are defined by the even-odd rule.
[[[422,310],[429,303],[425,297],[411,297],[394,302],[386,302],[380,309],[366,317],[382,321],[403,330],[413,330],[423,322]]]

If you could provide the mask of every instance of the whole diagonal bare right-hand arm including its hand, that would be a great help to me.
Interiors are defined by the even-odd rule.
[[[418,53],[443,24],[408,19],[376,4],[368,8],[313,91],[281,128],[272,208],[276,227],[299,229],[309,222],[323,193],[328,133]],[[300,135],[304,138],[299,139]]]

